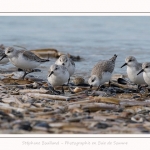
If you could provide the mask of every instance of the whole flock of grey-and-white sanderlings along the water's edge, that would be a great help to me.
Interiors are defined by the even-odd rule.
[[[111,79],[115,68],[116,58],[117,55],[115,54],[111,59],[100,61],[93,67],[91,77],[88,80],[90,88],[93,86],[99,88]],[[0,45],[0,63],[5,64],[8,61],[24,71],[24,79],[24,77],[30,73],[32,69],[49,60],[41,59],[34,53],[24,49],[16,50],[14,47],[5,48],[3,45]],[[121,68],[125,65],[127,65],[128,77],[133,83],[137,85],[150,85],[150,63],[141,64],[135,57],[128,56],[125,59],[125,64],[122,65]],[[30,70],[30,72],[28,72],[28,70]],[[51,65],[49,69],[47,80],[51,85],[51,89],[55,91],[54,88],[56,86],[63,85],[66,82],[69,83],[70,77],[74,74],[74,72],[75,63],[72,59],[70,59],[67,55],[61,55],[56,60],[55,64]]]

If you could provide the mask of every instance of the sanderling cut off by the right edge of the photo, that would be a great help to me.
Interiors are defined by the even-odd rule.
[[[137,75],[139,76],[139,74],[141,74],[143,72],[143,78],[144,81],[150,85],[150,62],[145,62],[142,64],[142,68],[141,70],[137,73]]]

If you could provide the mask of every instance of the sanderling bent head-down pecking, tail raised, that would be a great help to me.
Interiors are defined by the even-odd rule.
[[[90,88],[93,86],[98,86],[98,88],[105,82],[108,82],[112,76],[112,72],[115,67],[117,55],[115,54],[109,60],[103,60],[98,62],[91,72],[91,77],[88,80]]]

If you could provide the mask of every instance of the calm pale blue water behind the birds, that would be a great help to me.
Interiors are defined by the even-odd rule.
[[[86,76],[99,60],[114,54],[118,55],[114,73],[126,73],[126,67],[120,66],[128,55],[134,55],[139,62],[150,61],[150,17],[1,16],[0,35],[0,43],[4,45],[56,48],[79,55],[84,60],[76,62],[76,74]],[[39,68],[46,73],[54,61]]]

